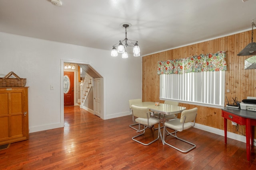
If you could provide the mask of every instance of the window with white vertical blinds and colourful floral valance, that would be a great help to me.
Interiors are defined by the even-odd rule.
[[[223,107],[226,51],[158,61],[160,99]]]

